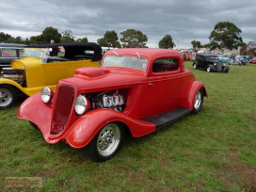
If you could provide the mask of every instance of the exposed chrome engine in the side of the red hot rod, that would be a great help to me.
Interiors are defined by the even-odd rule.
[[[126,104],[126,94],[119,89],[107,90],[98,94],[86,94],[86,97],[91,103],[91,109],[108,108],[121,112]]]

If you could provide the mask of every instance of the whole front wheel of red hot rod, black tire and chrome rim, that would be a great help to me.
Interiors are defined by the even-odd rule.
[[[119,152],[122,140],[122,125],[119,122],[111,122],[105,125],[85,147],[86,154],[95,162],[107,161]]]

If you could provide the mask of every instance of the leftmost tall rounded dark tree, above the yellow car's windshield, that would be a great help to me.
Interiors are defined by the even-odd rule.
[[[42,34],[37,38],[38,43],[50,43],[51,40],[55,40],[55,42],[60,42],[61,34],[58,33],[57,29],[48,26],[43,31]]]

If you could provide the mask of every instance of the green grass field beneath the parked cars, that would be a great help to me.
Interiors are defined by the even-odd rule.
[[[0,191],[6,177],[42,177],[43,187],[8,191],[256,191],[256,65],[229,73],[185,68],[209,98],[188,115],[140,138],[126,137],[116,157],[94,163],[83,149],[47,144],[16,118],[19,104],[0,111]]]

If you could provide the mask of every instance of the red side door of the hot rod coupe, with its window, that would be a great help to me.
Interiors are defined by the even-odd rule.
[[[152,76],[148,79],[148,85],[142,104],[140,116],[151,117],[167,112],[178,106],[177,98],[181,88],[181,74],[178,70],[178,62],[158,62],[159,69],[153,69]]]

